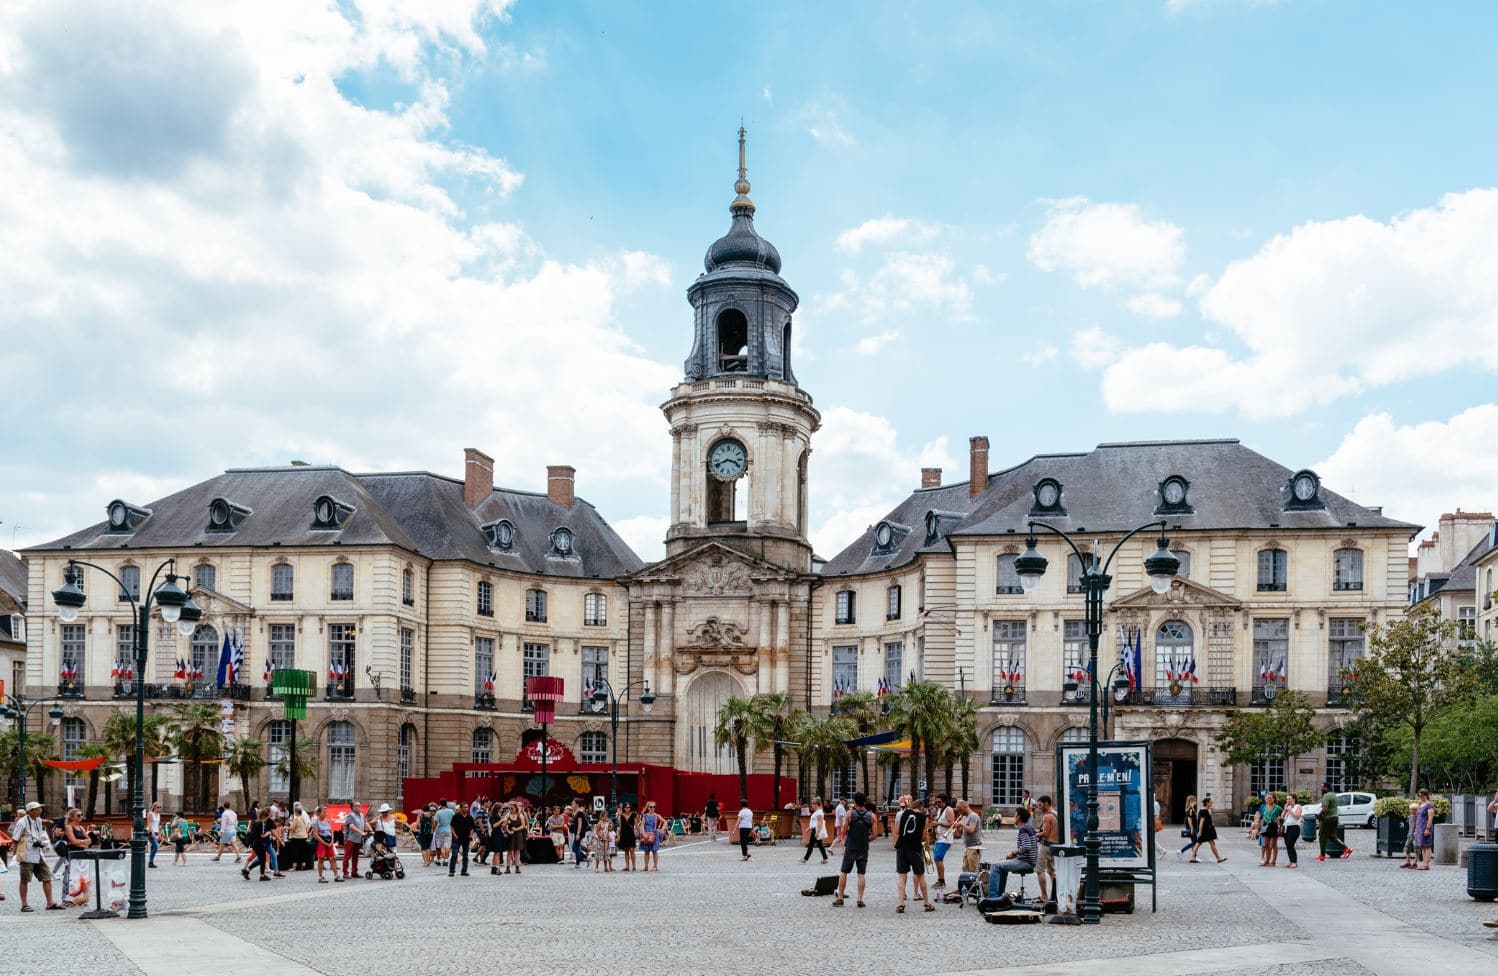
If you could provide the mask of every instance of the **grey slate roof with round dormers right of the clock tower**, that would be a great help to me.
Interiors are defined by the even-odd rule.
[[[1155,515],[1159,484],[1171,475],[1189,484],[1192,513]],[[1285,510],[1293,469],[1278,464],[1237,440],[1152,440],[1104,443],[1085,454],[1035,455],[989,476],[989,488],[968,497],[968,482],[921,488],[896,506],[887,521],[909,525],[911,533],[893,552],[873,552],[870,525],[848,548],[828,560],[825,575],[869,573],[903,566],[923,551],[948,551],[951,536],[1023,534],[1032,518],[1034,487],[1043,478],[1062,485],[1065,515],[1043,521],[1064,531],[1126,531],[1155,518],[1171,527],[1195,530],[1269,528],[1399,528],[1419,525],[1384,516],[1333,492],[1318,492],[1326,507]],[[927,540],[926,513],[947,512],[938,536]]]

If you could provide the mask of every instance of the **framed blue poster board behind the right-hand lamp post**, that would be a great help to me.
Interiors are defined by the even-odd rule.
[[[1150,742],[1098,742],[1098,862],[1149,870],[1155,853],[1153,748]],[[1056,745],[1058,814],[1064,843],[1088,832],[1088,744]]]

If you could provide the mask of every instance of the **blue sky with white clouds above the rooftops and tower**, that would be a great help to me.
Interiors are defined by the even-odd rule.
[[[1498,6],[0,0],[0,545],[292,458],[578,469],[646,558],[685,292],[798,292],[833,555],[920,484],[1237,437],[1498,507]]]

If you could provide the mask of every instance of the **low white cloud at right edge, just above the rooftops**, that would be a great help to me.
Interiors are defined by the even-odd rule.
[[[1360,504],[1434,527],[1441,512],[1498,510],[1498,404],[1449,421],[1395,424],[1389,413],[1357,422],[1315,470]]]

